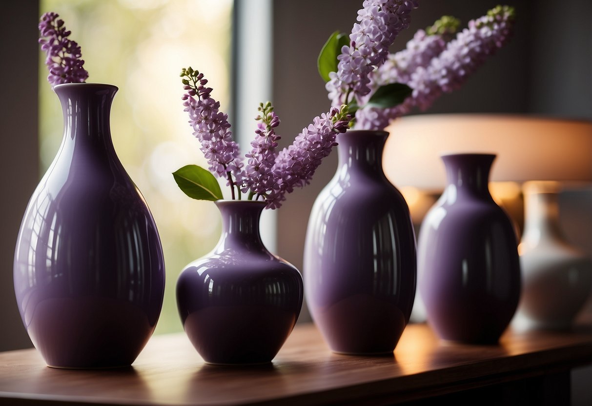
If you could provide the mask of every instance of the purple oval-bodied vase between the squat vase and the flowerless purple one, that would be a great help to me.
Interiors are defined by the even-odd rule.
[[[382,172],[385,131],[337,137],[339,164],[308,221],[307,304],[333,352],[392,353],[416,288],[416,241],[407,203]]]

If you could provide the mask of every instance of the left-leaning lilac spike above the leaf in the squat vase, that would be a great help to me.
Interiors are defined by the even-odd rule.
[[[228,179],[227,185],[230,185],[234,195],[234,184],[242,183],[244,164],[239,157],[239,144],[232,139],[228,115],[219,111],[220,102],[211,97],[212,89],[205,87],[208,81],[203,73],[189,67],[182,70],[181,76],[187,78],[183,81],[186,93],[182,99],[193,134],[200,140],[201,151],[210,164],[211,172],[219,178]],[[230,174],[234,176],[234,182]]]

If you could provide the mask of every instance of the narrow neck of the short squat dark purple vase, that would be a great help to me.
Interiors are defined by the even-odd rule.
[[[222,215],[220,249],[261,249],[259,219],[265,202],[218,200],[215,202]]]

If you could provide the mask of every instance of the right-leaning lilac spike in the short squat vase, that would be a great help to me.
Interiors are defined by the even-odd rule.
[[[328,156],[334,146],[336,135],[345,133],[351,117],[343,106],[315,117],[313,123],[303,128],[294,143],[281,150],[272,169],[276,184],[266,198],[268,208],[278,208],[285,194],[295,187],[308,185],[321,160]]]

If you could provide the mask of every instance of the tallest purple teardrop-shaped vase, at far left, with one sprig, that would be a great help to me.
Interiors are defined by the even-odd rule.
[[[128,366],[162,308],[159,234],[113,148],[117,87],[69,83],[54,90],[65,130],[18,233],[18,308],[47,365]]]

